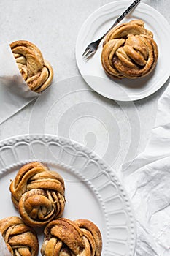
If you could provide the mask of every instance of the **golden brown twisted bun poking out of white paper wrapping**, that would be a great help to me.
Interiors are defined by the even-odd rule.
[[[15,61],[23,79],[32,91],[44,91],[53,80],[53,69],[43,59],[39,48],[28,41],[15,41],[10,44]]]

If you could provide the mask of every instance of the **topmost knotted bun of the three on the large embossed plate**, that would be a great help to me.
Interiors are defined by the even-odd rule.
[[[10,192],[12,202],[28,225],[42,227],[63,214],[63,178],[40,162],[21,167],[10,184]]]

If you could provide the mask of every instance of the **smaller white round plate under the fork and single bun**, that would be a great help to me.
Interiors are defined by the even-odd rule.
[[[154,34],[157,42],[159,56],[158,64],[152,74],[138,79],[110,79],[101,66],[102,42],[96,54],[85,61],[82,53],[90,42],[100,38],[114,23],[114,20],[125,10],[130,1],[114,1],[100,7],[93,12],[85,23],[77,37],[76,59],[80,73],[88,85],[99,94],[109,99],[130,101],[142,99],[154,93],[163,86],[169,78],[170,58],[170,26],[167,20],[154,8],[147,4],[139,3],[137,7],[121,23],[134,19],[144,20],[146,29]]]

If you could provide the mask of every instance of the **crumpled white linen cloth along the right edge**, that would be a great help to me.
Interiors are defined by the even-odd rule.
[[[158,101],[152,135],[142,154],[122,167],[136,217],[136,255],[170,255],[170,84]]]

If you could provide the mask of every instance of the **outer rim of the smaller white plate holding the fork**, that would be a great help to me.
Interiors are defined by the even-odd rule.
[[[82,71],[81,70],[81,64],[80,64],[80,56],[78,54],[79,52],[79,42],[80,42],[80,36],[81,36],[81,33],[82,33],[82,30],[84,29],[85,26],[87,26],[87,24],[89,23],[89,20],[91,20],[92,18],[95,19],[95,18],[98,18],[99,16],[95,16],[98,12],[101,12],[101,10],[103,10],[104,8],[106,7],[114,7],[115,5],[121,5],[121,4],[126,4],[125,6],[128,6],[129,4],[129,1],[127,0],[120,0],[120,1],[112,1],[110,3],[107,3],[107,4],[104,4],[102,5],[101,7],[98,7],[98,9],[94,10],[93,12],[90,13],[90,15],[88,15],[88,18],[86,18],[84,20],[84,22],[82,23],[82,26],[80,27],[80,31],[79,33],[77,34],[77,39],[76,39],[76,45],[75,45],[75,57],[76,57],[76,61],[77,61],[77,67],[80,71],[80,75],[82,75],[82,78],[85,80],[86,83],[88,83],[88,86],[90,86],[91,89],[93,89],[94,91],[96,91],[98,94],[101,94],[101,96],[104,96],[108,99],[113,99],[113,100],[116,100],[117,102],[120,101],[120,102],[129,102],[129,101],[136,101],[136,100],[139,100],[139,99],[144,99],[146,97],[149,97],[150,95],[154,94],[156,91],[158,91],[159,89],[161,89],[161,87],[166,83],[166,81],[169,79],[170,77],[170,72],[166,72],[166,75],[163,76],[162,79],[160,79],[162,82],[160,83],[159,86],[156,86],[155,89],[150,89],[149,91],[147,92],[144,92],[143,95],[140,95],[139,93],[135,94],[134,96],[129,96],[128,92],[125,91],[125,94],[127,94],[128,97],[124,97],[124,98],[121,98],[121,99],[117,99],[117,97],[112,97],[110,96],[109,94],[105,93],[104,91],[100,91],[99,89],[96,89],[94,88],[94,86],[89,82],[88,80],[88,77],[90,77],[91,75],[88,75],[88,74],[84,74],[84,70]],[[153,12],[156,12],[158,13],[158,15],[163,19],[163,21],[166,23],[166,26],[169,26],[169,31],[170,31],[170,23],[168,20],[166,20],[166,18],[161,14],[161,12],[159,12],[158,10],[156,10],[154,7],[150,6],[149,4],[145,4],[145,3],[139,3],[139,8],[140,6],[142,7],[145,7],[147,8],[148,10],[152,11]],[[134,10],[135,11],[135,10]],[[170,36],[169,36],[169,39],[170,39]],[[104,80],[109,80],[110,78],[109,77],[99,77],[98,78],[102,78]]]

